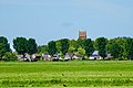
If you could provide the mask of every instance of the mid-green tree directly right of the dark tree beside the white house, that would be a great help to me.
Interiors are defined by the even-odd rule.
[[[121,46],[116,43],[115,40],[110,40],[106,44],[106,51],[114,57],[121,57]]]

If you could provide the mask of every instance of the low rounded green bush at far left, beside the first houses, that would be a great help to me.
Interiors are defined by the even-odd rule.
[[[18,61],[18,57],[13,53],[7,52],[4,54],[4,61],[6,62],[16,62],[16,61]]]

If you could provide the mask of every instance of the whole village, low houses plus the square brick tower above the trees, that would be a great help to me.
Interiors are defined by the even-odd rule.
[[[86,31],[79,31],[79,38],[80,40],[85,40],[86,38]],[[60,53],[50,55],[49,53],[42,53],[41,55],[37,54],[24,54],[23,55],[17,55],[19,62],[38,62],[38,61],[51,61],[51,62],[68,62],[68,61],[82,61],[82,59],[88,59],[88,61],[94,61],[94,59],[103,59],[102,56],[99,55],[99,51],[94,51],[92,55],[89,57],[79,55],[76,53],[65,53],[64,56],[62,56]],[[104,59],[110,59],[112,58],[111,54],[106,53],[106,57]]]

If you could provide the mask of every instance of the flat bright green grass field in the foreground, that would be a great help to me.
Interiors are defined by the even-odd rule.
[[[0,87],[133,87],[133,62],[0,62]]]

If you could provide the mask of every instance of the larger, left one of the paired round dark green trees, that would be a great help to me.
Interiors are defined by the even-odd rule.
[[[28,53],[28,40],[25,37],[17,37],[13,40],[13,48],[19,53],[24,55]]]

